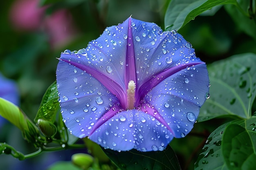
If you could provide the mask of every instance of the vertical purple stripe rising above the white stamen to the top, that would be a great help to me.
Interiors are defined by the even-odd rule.
[[[124,83],[126,88],[128,88],[128,83],[130,80],[133,80],[136,83],[136,73],[135,73],[135,55],[134,55],[134,48],[133,48],[133,39],[132,39],[132,29],[131,29],[131,17],[129,18],[128,22],[128,38],[127,38],[127,51],[126,51],[126,68],[125,68],[125,77]],[[136,85],[136,84],[135,84]],[[137,93],[135,91],[135,93]],[[127,91],[126,91],[126,98],[127,99]],[[124,108],[128,108],[128,102],[126,102],[126,106]]]

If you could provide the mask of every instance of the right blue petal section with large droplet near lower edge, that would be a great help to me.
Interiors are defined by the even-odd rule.
[[[160,82],[145,97],[145,102],[154,105],[176,138],[185,137],[191,131],[208,97],[206,70],[204,63],[182,69]]]

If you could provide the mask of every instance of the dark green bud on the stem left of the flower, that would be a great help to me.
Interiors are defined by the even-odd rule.
[[[46,137],[52,137],[57,132],[56,126],[50,121],[38,119],[37,126]]]

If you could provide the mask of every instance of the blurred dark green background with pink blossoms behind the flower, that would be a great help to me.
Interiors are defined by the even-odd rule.
[[[56,79],[56,57],[62,51],[85,48],[107,26],[121,23],[130,15],[138,20],[155,22],[164,29],[164,16],[169,2],[170,0],[2,1],[0,73],[18,84],[20,108],[33,120],[43,94]],[[191,42],[196,55],[207,64],[238,53],[256,53],[256,33],[248,33],[243,25],[240,26],[243,23],[231,17],[228,10],[230,8],[232,6],[219,6],[207,11],[178,31]],[[193,169],[200,147],[202,148],[209,133],[223,121],[225,120],[220,119],[219,122],[215,120],[200,123],[200,126],[195,124],[195,129],[188,137],[173,140],[171,146],[178,155],[182,168]],[[0,132],[0,142],[7,142],[25,153],[34,150],[33,146],[23,141],[18,128],[6,124]],[[187,140],[191,140],[191,145],[183,147],[182,143]],[[71,157],[64,155],[72,153],[57,152],[52,157],[54,160],[68,160]],[[47,157],[43,154],[34,159],[34,162],[37,160],[35,166],[40,165]],[[53,160],[50,163],[52,162]],[[0,156],[1,167],[7,170],[15,167],[11,164],[16,163],[19,161],[11,156]],[[45,170],[50,163],[46,160],[44,166],[38,166],[37,170]]]

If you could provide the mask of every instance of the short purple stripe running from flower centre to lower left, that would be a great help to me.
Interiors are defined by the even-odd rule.
[[[93,126],[90,135],[92,135],[92,133],[99,128],[101,125],[105,124],[106,121],[108,121],[109,119],[111,119],[113,116],[115,116],[117,113],[119,113],[119,110],[124,110],[121,108],[121,106],[112,106],[107,113],[105,113]]]

